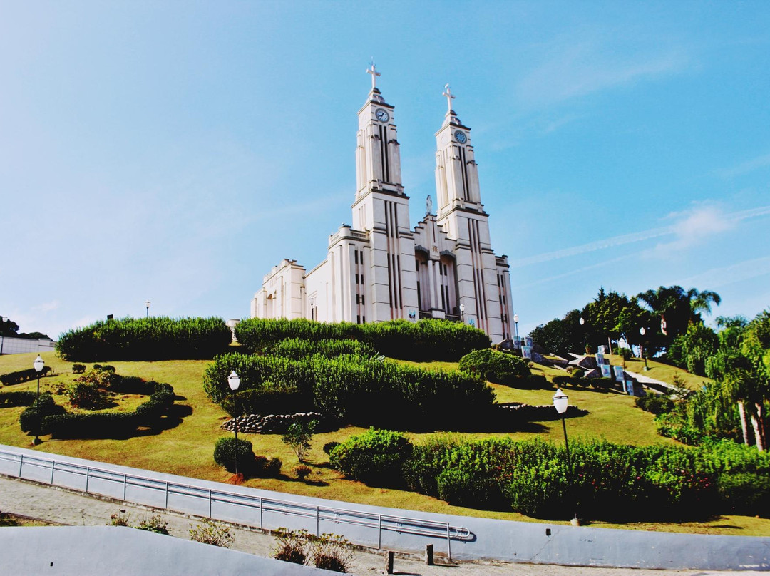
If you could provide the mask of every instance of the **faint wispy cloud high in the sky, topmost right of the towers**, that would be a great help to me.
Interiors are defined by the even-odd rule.
[[[611,55],[596,42],[561,40],[551,57],[516,87],[523,102],[544,105],[679,72],[690,62],[681,49],[658,54]]]

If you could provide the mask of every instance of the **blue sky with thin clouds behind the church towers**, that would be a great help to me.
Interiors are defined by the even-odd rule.
[[[248,316],[350,223],[372,55],[412,225],[457,95],[520,333],[600,286],[770,307],[768,2],[0,0],[0,314]]]

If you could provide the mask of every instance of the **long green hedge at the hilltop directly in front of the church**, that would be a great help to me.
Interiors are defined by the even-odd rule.
[[[456,361],[471,350],[490,345],[487,335],[448,320],[390,320],[379,323],[327,324],[313,320],[251,318],[236,326],[238,342],[251,351],[265,351],[281,340],[359,340],[377,352],[403,360]]]

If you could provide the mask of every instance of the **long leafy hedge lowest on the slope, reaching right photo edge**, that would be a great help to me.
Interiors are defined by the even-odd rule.
[[[379,459],[373,460],[373,450]],[[732,442],[698,448],[634,447],[606,441],[563,447],[511,438],[460,441],[370,430],[331,450],[331,464],[377,486],[401,487],[468,507],[514,509],[542,518],[638,521],[711,514],[770,515],[770,454]]]

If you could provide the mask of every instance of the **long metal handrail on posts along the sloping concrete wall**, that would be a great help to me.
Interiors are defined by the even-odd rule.
[[[378,550],[382,547],[383,532],[390,531],[397,534],[413,534],[415,536],[434,537],[446,540],[447,556],[448,558],[451,558],[453,540],[467,541],[473,537],[467,528],[452,526],[448,522],[438,522],[423,518],[392,516],[390,514],[374,514],[370,512],[350,510],[347,508],[317,506],[315,504],[306,504],[302,502],[280,500],[277,498],[262,496],[249,496],[248,494],[238,494],[236,492],[225,490],[204,488],[200,486],[194,486],[192,484],[182,484],[178,482],[159,480],[152,477],[124,474],[122,472],[111,471],[107,468],[72,464],[71,462],[56,460],[52,457],[42,457],[37,455],[25,456],[25,454],[0,450],[0,460],[5,460],[6,462],[10,462],[12,464],[18,464],[18,471],[16,471],[15,474],[8,474],[9,476],[12,475],[20,479],[24,478],[22,473],[25,466],[35,467],[37,469],[43,469],[46,471],[50,470],[50,477],[46,477],[45,480],[35,478],[35,481],[50,484],[51,486],[59,485],[69,489],[80,490],[85,492],[85,494],[100,494],[102,496],[112,497],[117,500],[126,502],[146,504],[141,501],[128,499],[126,495],[129,489],[135,487],[150,491],[162,492],[164,510],[172,510],[185,514],[189,513],[189,511],[183,510],[179,507],[169,507],[169,496],[192,497],[198,501],[207,503],[207,516],[209,518],[214,518],[212,514],[213,507],[218,503],[244,507],[249,511],[253,511],[255,513],[257,511],[259,512],[259,523],[248,524],[242,522],[242,524],[258,527],[260,530],[266,529],[264,522],[264,514],[266,512],[274,512],[278,514],[286,514],[288,516],[314,519],[316,536],[320,535],[320,524],[322,521],[331,521],[336,524],[350,524],[360,527],[377,529]],[[55,476],[57,472],[64,474],[74,474],[78,477],[85,477],[85,489],[73,488],[72,486],[66,484],[55,484]],[[122,497],[120,494],[115,496],[115,494],[112,492],[107,493],[93,490],[92,486],[89,486],[92,481],[104,481],[115,484],[115,487],[117,487],[119,491],[122,489]],[[223,518],[218,519],[223,520]],[[344,535],[345,534],[343,534],[343,536]]]

